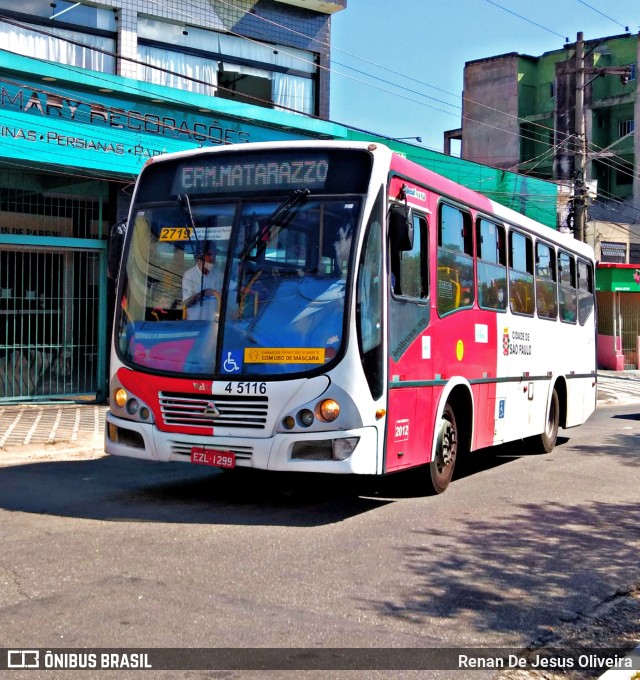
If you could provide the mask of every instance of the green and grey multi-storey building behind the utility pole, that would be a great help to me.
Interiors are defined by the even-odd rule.
[[[584,149],[585,240],[605,262],[640,262],[639,44],[631,34],[584,41],[584,147],[576,136],[575,43],[467,62],[462,127],[449,133],[461,139],[462,158],[557,182],[560,227],[571,227]]]

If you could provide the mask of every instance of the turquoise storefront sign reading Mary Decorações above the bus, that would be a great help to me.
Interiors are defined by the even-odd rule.
[[[77,83],[69,81],[74,74]],[[66,69],[64,80],[60,76],[56,64],[43,66],[21,55],[0,55],[2,156],[131,177],[152,156],[171,151],[316,138],[318,128],[336,127],[215,97],[176,94],[172,88],[149,85],[148,96],[136,96],[138,81],[113,75],[98,78],[81,69]],[[43,83],[41,78],[53,82]],[[104,91],[105,82],[113,93]],[[166,99],[151,98],[160,91],[166,91]],[[176,105],[172,100],[178,95]],[[222,113],[230,107],[234,115]],[[327,131],[326,136],[333,136]]]

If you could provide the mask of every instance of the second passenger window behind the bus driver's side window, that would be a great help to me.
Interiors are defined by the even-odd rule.
[[[478,304],[484,309],[507,308],[505,229],[484,218],[476,222]]]

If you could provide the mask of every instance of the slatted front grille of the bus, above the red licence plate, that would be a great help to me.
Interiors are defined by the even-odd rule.
[[[165,425],[183,427],[238,427],[264,430],[269,398],[257,395],[215,395],[207,398],[179,392],[160,392]]]

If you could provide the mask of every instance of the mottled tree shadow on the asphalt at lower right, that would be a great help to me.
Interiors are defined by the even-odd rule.
[[[578,620],[616,579],[636,577],[638,526],[637,504],[555,502],[514,504],[509,521],[497,524],[458,518],[455,532],[417,530],[401,550],[419,586],[362,607],[418,625],[534,631],[552,642],[550,622]]]

